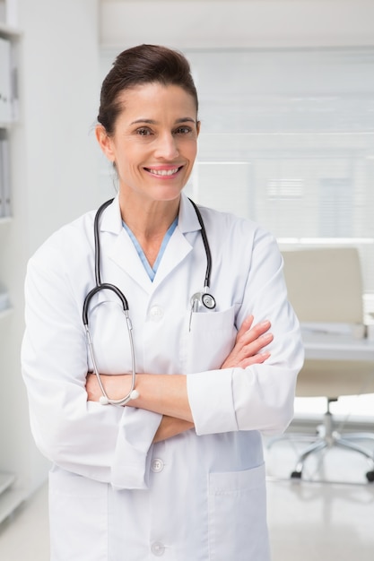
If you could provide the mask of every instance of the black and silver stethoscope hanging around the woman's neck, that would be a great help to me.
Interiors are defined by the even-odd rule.
[[[201,227],[201,236],[203,238],[204,243],[204,250],[206,255],[206,272],[204,278],[204,288],[200,292],[196,292],[191,297],[191,313],[190,313],[190,320],[189,320],[189,329],[191,329],[191,318],[193,312],[200,312],[200,311],[207,311],[213,310],[215,308],[215,299],[213,298],[212,294],[209,293],[209,283],[211,278],[211,270],[212,270],[212,255],[211,250],[208,243],[208,238],[206,236],[206,231],[204,227],[204,221],[201,216],[200,211],[198,210],[196,203],[189,199],[190,203],[192,203],[195,211],[197,219],[200,223]],[[139,397],[139,392],[135,390],[135,382],[136,382],[136,369],[135,369],[135,348],[134,348],[134,338],[133,338],[133,325],[131,323],[130,315],[128,313],[128,302],[124,293],[118,289],[118,287],[114,284],[110,284],[109,282],[101,282],[101,274],[100,274],[100,235],[99,235],[99,226],[100,226],[100,217],[103,211],[113,202],[113,199],[109,199],[105,203],[101,204],[100,208],[96,212],[95,219],[93,221],[93,237],[94,237],[94,244],[95,244],[95,286],[93,289],[88,292],[86,297],[84,298],[83,302],[83,325],[86,331],[87,336],[87,343],[88,348],[90,350],[90,356],[92,361],[93,372],[97,377],[100,391],[102,393],[100,397],[101,405],[126,405],[126,403],[130,400],[135,400]],[[93,345],[91,340],[91,333],[89,328],[89,321],[88,321],[88,313],[89,307],[91,303],[91,299],[98,293],[100,290],[111,290],[120,300],[121,305],[123,307],[123,311],[126,317],[126,326],[127,326],[127,333],[128,339],[130,342],[130,352],[131,352],[131,387],[129,392],[119,400],[111,400],[101,382],[100,373],[96,364],[95,355],[93,352]]]

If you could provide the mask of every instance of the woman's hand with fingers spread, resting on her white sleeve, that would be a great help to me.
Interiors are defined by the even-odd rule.
[[[221,368],[245,368],[253,364],[261,364],[270,357],[269,352],[260,351],[274,339],[273,334],[268,332],[271,324],[265,320],[252,327],[253,319],[253,315],[248,315],[241,324],[234,348]]]

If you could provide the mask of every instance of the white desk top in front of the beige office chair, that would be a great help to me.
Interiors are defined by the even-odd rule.
[[[358,339],[349,333],[313,331],[301,325],[305,358],[314,360],[373,361],[374,341]]]

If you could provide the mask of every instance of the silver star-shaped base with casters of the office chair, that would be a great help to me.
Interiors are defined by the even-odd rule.
[[[300,454],[298,461],[296,462],[295,469],[291,471],[291,479],[301,479],[302,478],[302,470],[304,468],[304,464],[309,458],[309,456],[313,453],[320,452],[324,449],[333,448],[334,446],[344,448],[346,450],[351,450],[352,452],[357,452],[363,455],[368,462],[370,462],[370,470],[367,471],[366,479],[369,483],[374,482],[374,454],[368,452],[360,445],[355,444],[354,441],[356,440],[374,440],[374,434],[371,433],[344,433],[340,434],[339,432],[333,429],[333,416],[330,412],[329,405],[330,401],[327,400],[327,410],[324,415],[323,424],[317,427],[317,439],[316,437],[311,437],[307,435],[299,436],[294,435],[291,436],[292,440],[297,440],[299,442],[310,442],[312,444],[304,450],[303,453]],[[283,438],[287,438],[288,436],[281,436],[279,438],[274,438],[270,441],[269,447],[282,440]]]

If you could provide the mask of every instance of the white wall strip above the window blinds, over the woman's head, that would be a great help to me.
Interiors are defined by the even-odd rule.
[[[369,46],[372,0],[101,0],[103,47]]]

